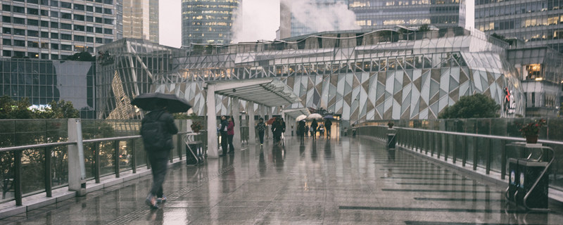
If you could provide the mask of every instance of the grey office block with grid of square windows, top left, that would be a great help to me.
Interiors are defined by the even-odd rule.
[[[64,59],[122,38],[121,0],[3,0],[1,55]]]

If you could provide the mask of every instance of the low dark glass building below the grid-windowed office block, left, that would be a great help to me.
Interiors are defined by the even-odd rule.
[[[80,117],[94,119],[94,62],[0,58],[0,95],[32,105],[70,101]]]

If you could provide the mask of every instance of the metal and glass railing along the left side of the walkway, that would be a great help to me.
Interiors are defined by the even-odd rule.
[[[170,162],[175,158],[182,160],[185,155],[186,146],[182,143],[182,135],[187,133],[179,132],[173,136],[175,150],[170,154]],[[205,131],[201,131],[195,139],[203,141],[205,146],[206,137]],[[137,173],[139,167],[146,166],[150,169],[140,135],[0,148],[0,203],[15,200],[15,205],[20,206],[25,196],[44,192],[46,197],[52,197],[53,188],[68,186],[69,146],[84,149],[85,178],[95,180],[96,184],[101,182],[103,176],[114,174],[118,178],[128,170]],[[53,167],[58,169],[53,171]],[[36,176],[28,177],[30,174]],[[53,183],[56,185],[53,186]],[[7,196],[11,193],[13,196]]]

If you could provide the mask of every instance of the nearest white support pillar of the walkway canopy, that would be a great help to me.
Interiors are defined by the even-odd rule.
[[[217,113],[215,113],[215,85],[208,85],[207,96],[207,155],[208,158],[219,158],[217,149]]]

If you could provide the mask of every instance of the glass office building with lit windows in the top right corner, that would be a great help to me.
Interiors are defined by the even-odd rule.
[[[475,0],[475,27],[563,52],[562,0]]]

